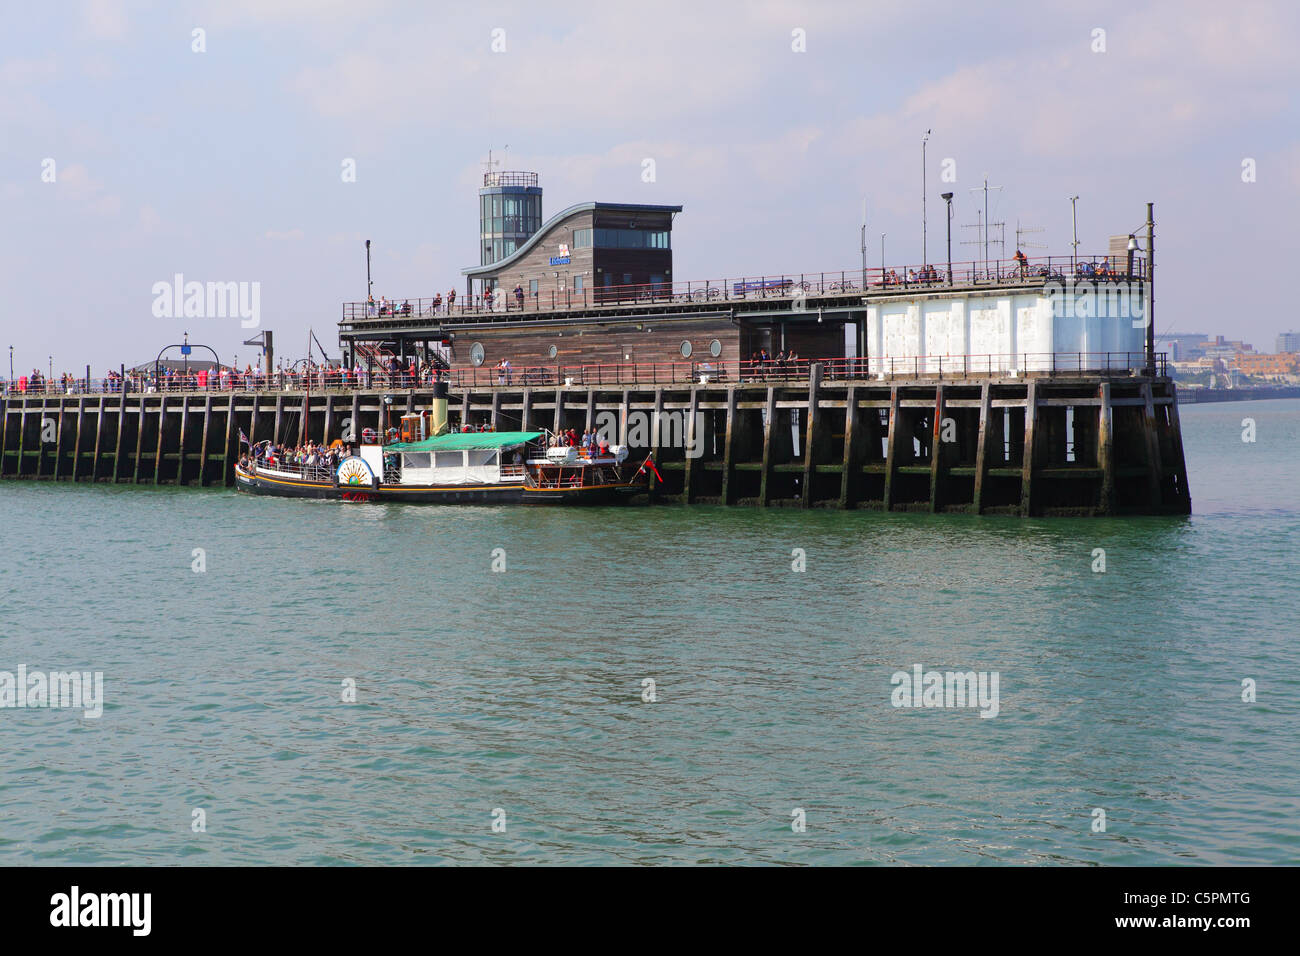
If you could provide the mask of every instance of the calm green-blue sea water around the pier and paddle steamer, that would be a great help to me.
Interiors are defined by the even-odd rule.
[[[0,670],[105,702],[0,710],[0,864],[1300,862],[1300,402],[1182,416],[1191,519],[6,483]]]

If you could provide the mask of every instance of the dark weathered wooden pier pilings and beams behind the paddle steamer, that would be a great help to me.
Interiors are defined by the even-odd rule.
[[[1013,515],[1190,514],[1175,386],[1140,373],[452,389],[459,427],[649,421],[680,503]],[[389,399],[387,403],[385,399]],[[358,442],[432,390],[21,395],[3,407],[0,477],[233,484],[239,432]],[[677,428],[667,428],[676,416]],[[659,425],[655,425],[658,420]],[[636,442],[633,442],[636,444]],[[688,454],[690,446],[692,453]]]

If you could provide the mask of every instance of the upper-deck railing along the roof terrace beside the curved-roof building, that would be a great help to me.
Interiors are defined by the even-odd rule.
[[[1131,272],[1130,272],[1131,265]],[[800,272],[776,276],[741,276],[736,278],[688,280],[633,285],[590,286],[582,289],[550,289],[536,293],[500,287],[499,294],[436,295],[400,302],[344,302],[344,323],[384,323],[413,319],[438,320],[480,319],[484,315],[523,317],[529,312],[563,312],[597,306],[637,306],[673,303],[710,303],[751,299],[794,299],[906,291],[945,286],[1026,286],[1049,281],[1117,282],[1141,278],[1141,259],[1130,264],[1127,256],[1046,256],[1039,259],[998,259],[892,268],[838,269],[833,272]]]

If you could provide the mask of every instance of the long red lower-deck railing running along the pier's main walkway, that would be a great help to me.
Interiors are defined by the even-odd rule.
[[[1147,367],[1145,352],[1002,352],[989,355],[910,355],[820,359],[746,359],[724,362],[627,362],[589,363],[577,365],[524,365],[504,369],[497,365],[481,368],[438,369],[426,368],[419,373],[335,369],[329,375],[313,375],[311,392],[352,392],[356,389],[420,389],[430,388],[436,380],[456,388],[589,388],[603,385],[682,385],[682,384],[734,384],[753,381],[796,381],[809,377],[810,367],[822,365],[823,378],[987,378],[992,376],[1066,376],[1066,375],[1134,375]],[[1167,352],[1156,354],[1156,375],[1169,375]],[[238,375],[213,376],[211,382],[196,378],[170,380],[161,385],[129,381],[129,394],[182,394],[229,392],[295,392],[307,390],[303,376],[292,375]],[[122,384],[117,378],[79,378],[75,382],[26,382],[4,393],[21,395],[95,395],[117,394]]]

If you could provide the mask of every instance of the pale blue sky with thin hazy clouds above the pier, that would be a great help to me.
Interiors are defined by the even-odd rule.
[[[1300,5],[3,0],[0,302],[17,373],[190,341],[338,355],[341,304],[464,289],[477,187],[681,204],[676,280],[1080,255],[1156,204],[1160,333],[1273,350],[1300,213]],[[922,139],[931,130],[922,164]],[[647,160],[653,163],[647,166]],[[651,168],[654,176],[647,177]],[[948,177],[945,181],[944,177]],[[650,181],[647,181],[650,179]],[[1045,248],[1028,243],[1044,243]],[[155,285],[256,284],[259,326]],[[8,369],[0,371],[0,376]]]

